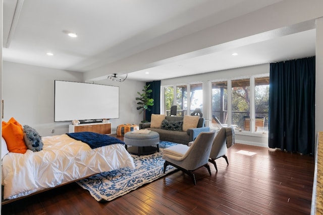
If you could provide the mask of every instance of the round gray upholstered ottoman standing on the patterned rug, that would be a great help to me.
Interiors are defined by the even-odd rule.
[[[135,155],[149,155],[159,152],[159,134],[155,131],[149,133],[127,132],[123,141],[129,153]],[[131,146],[131,147],[128,147]]]

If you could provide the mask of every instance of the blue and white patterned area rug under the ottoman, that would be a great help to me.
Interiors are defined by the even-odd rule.
[[[176,168],[169,165],[164,174],[165,160],[161,159],[163,149],[175,145],[177,144],[173,142],[160,141],[159,152],[142,156],[131,155],[136,167],[134,170],[122,168],[103,172],[76,183],[87,189],[95,200],[111,201],[176,170]]]

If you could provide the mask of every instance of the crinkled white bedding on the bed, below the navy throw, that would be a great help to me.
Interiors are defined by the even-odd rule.
[[[91,149],[66,134],[42,137],[40,152],[9,153],[2,161],[4,199],[14,199],[95,173],[135,168],[121,144]]]

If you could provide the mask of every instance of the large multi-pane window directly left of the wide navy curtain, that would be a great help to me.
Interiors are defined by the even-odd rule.
[[[268,76],[214,81],[211,90],[211,126],[219,127],[219,120],[245,131],[268,132]]]

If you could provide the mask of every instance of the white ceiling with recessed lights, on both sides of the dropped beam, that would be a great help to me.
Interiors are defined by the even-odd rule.
[[[4,0],[3,60],[89,72],[281,1]],[[78,37],[68,37],[68,31]],[[190,58],[178,56],[134,71],[128,79],[163,80],[313,56],[313,22],[295,25],[291,32],[265,32]],[[49,51],[54,55],[47,56]]]

